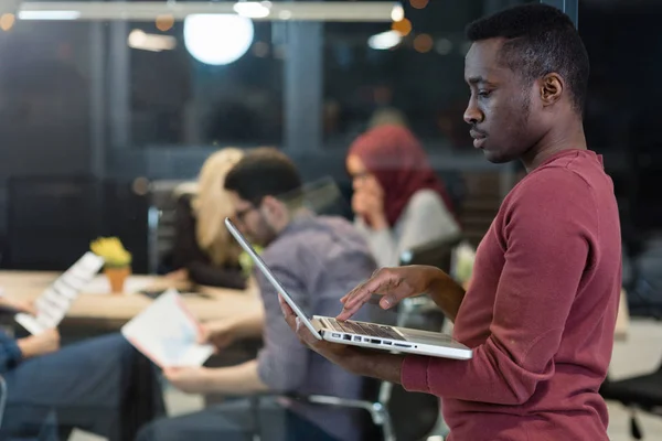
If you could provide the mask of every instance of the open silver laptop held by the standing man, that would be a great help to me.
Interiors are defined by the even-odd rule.
[[[453,341],[449,335],[442,333],[357,322],[353,320],[339,321],[333,318],[319,315],[309,319],[303,311],[301,311],[299,305],[295,303],[280,282],[276,280],[269,267],[267,267],[229,218],[225,219],[225,225],[242,248],[244,248],[248,256],[255,261],[267,280],[269,280],[274,288],[282,295],[301,322],[318,340],[325,340],[352,346],[370,347],[373,349],[396,351],[455,359],[469,359],[472,357],[473,353],[469,347]]]

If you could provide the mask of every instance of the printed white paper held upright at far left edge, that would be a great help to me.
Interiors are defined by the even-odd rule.
[[[33,335],[56,327],[81,290],[103,266],[102,257],[90,251],[86,252],[36,299],[34,304],[36,316],[20,313],[15,315],[17,322]]]

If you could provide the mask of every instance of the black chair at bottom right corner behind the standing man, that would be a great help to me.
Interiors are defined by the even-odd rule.
[[[605,380],[600,395],[606,400],[620,401],[630,409],[630,434],[642,440],[637,413],[642,410],[662,417],[662,363],[655,372],[611,381]]]

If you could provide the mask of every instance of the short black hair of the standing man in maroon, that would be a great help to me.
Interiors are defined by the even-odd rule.
[[[504,37],[500,61],[511,71],[533,82],[552,72],[568,85],[576,110],[584,110],[589,62],[586,47],[560,10],[541,3],[505,9],[467,26],[472,42]]]

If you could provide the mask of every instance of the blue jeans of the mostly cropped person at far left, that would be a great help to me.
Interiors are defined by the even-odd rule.
[[[154,366],[120,334],[26,359],[4,378],[0,440],[40,439],[53,424],[64,435],[79,428],[113,441],[131,440],[164,410]]]

